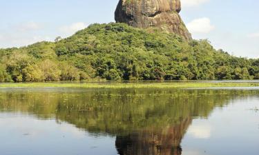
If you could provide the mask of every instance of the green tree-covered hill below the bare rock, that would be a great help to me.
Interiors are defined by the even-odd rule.
[[[124,23],[93,24],[67,39],[0,50],[0,81],[259,79],[259,60],[207,40]]]

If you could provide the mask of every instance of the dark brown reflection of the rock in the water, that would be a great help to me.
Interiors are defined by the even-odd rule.
[[[177,125],[117,136],[117,151],[120,155],[180,155],[180,143],[190,124],[191,118],[184,118]]]

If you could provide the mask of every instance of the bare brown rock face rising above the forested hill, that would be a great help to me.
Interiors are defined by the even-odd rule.
[[[119,0],[115,21],[136,28],[155,26],[191,40],[191,34],[179,15],[180,10],[180,0]]]

